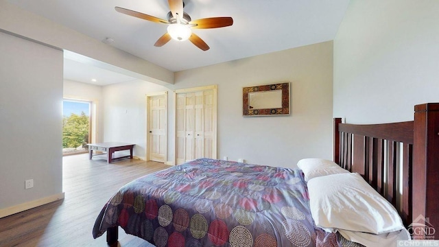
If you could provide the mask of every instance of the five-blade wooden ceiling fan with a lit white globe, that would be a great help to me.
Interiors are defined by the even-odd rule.
[[[194,34],[191,29],[207,29],[233,25],[232,17],[211,17],[192,21],[191,16],[189,16],[189,14],[186,12],[183,12],[184,3],[182,0],[168,0],[168,3],[171,11],[167,13],[167,21],[165,19],[143,14],[134,10],[128,10],[120,7],[115,7],[115,9],[117,12],[128,14],[140,19],[153,21],[155,23],[167,24],[167,33],[158,38],[154,44],[156,47],[165,45],[169,42],[169,40],[171,40],[171,38],[179,41],[189,39],[193,45],[202,49],[203,51],[207,51],[210,48],[209,45],[207,45],[198,35]]]

